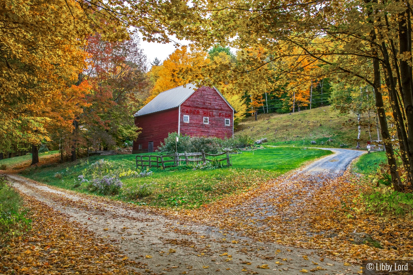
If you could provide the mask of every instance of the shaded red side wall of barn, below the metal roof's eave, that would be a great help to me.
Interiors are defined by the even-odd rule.
[[[161,142],[164,142],[168,133],[178,132],[179,108],[147,114],[135,117],[135,125],[142,128],[138,140],[133,141],[132,154],[144,153],[148,151],[148,143],[154,142],[154,151],[158,149]],[[142,149],[139,150],[139,144]]]

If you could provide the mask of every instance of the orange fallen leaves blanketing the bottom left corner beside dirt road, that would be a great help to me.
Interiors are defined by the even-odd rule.
[[[20,195],[31,228],[7,242],[0,238],[2,274],[140,274],[132,268],[143,264],[127,260],[116,247],[42,202]]]

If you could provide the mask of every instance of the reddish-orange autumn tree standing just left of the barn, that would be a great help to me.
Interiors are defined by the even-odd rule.
[[[146,57],[134,36],[111,42],[95,34],[87,40],[89,66],[79,80],[87,81],[90,89],[85,93],[87,104],[76,118],[74,134],[79,146],[106,150],[134,140],[139,133],[133,114],[147,86]],[[71,154],[76,152],[71,150]]]

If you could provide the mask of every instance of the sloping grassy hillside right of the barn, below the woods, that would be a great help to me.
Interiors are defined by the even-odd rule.
[[[371,121],[375,125],[372,115]],[[362,118],[361,147],[366,148],[368,117]],[[324,147],[355,148],[357,145],[357,118],[354,114],[342,115],[330,106],[296,112],[294,114],[262,114],[258,121],[249,117],[242,121],[235,135],[247,134],[253,139],[266,137],[268,144],[288,146],[309,146],[312,140]],[[377,130],[371,128],[373,140],[377,140]],[[328,139],[332,142],[327,142]],[[324,144],[322,144],[324,142]]]

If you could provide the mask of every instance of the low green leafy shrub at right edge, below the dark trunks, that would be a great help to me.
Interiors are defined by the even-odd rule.
[[[413,194],[397,192],[388,186],[370,188],[360,196],[366,211],[380,216],[405,216],[413,212]]]

